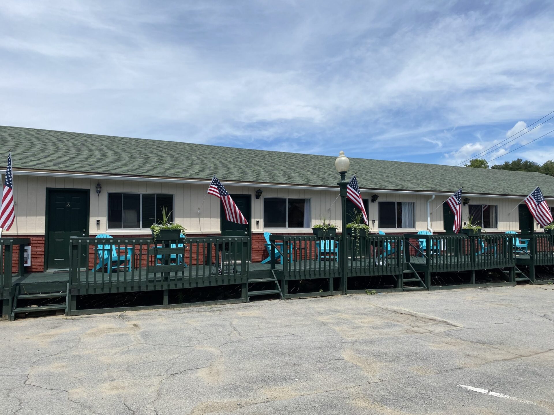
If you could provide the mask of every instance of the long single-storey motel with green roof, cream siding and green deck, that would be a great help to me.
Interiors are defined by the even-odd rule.
[[[290,298],[371,288],[516,285],[538,283],[537,275],[554,265],[545,239],[550,235],[522,203],[540,186],[554,207],[554,177],[540,173],[361,159],[346,152],[347,180],[356,173],[370,227],[363,241],[348,240],[346,269],[337,249],[343,229],[336,157],[0,127],[2,183],[10,149],[16,219],[1,235],[3,250],[9,246],[3,260],[11,256],[13,272],[2,264],[4,318],[25,309],[32,295],[48,293],[66,296],[50,305],[84,314],[94,309],[87,295],[103,295],[104,304],[110,295],[160,295],[159,304],[130,303],[132,309],[170,307],[189,297],[202,304],[248,301],[255,295],[250,293]],[[247,225],[226,220],[220,200],[207,195],[214,175]],[[478,237],[452,231],[454,215],[444,201],[459,188],[462,222],[471,217],[481,225]],[[350,221],[355,209],[350,201],[346,206]],[[163,207],[186,228],[172,257],[153,251],[150,226]],[[338,225],[327,241],[312,231],[322,219]],[[418,237],[419,231],[428,232]],[[525,237],[506,236],[509,231]],[[99,243],[99,235],[113,242]],[[99,245],[113,245],[124,258],[102,266]],[[550,259],[537,262],[545,255]],[[213,266],[216,272],[207,269]],[[203,290],[224,286],[236,286],[236,298],[213,299]],[[197,291],[187,297],[187,289]]]

